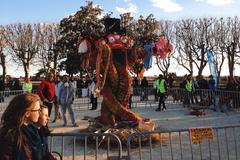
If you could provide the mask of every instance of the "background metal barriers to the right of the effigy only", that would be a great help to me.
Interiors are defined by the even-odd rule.
[[[134,92],[134,91],[133,91]],[[147,98],[142,98],[139,93],[144,92],[141,88],[137,88],[132,97],[133,107],[138,106],[157,106],[158,98],[154,88],[148,88]],[[155,93],[155,94],[154,94]],[[191,105],[205,106],[214,110],[231,110],[240,109],[240,92],[226,91],[226,90],[210,90],[210,89],[196,89],[186,95],[186,92],[181,88],[171,88],[166,94],[165,103],[167,104],[183,104],[186,96],[190,100]]]

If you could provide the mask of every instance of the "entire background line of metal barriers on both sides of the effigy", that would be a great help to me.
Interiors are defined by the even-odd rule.
[[[33,91],[35,92],[35,91]],[[90,96],[85,93],[82,97],[80,90],[76,91],[75,100],[73,103],[74,109],[89,109],[91,108]],[[145,95],[145,92],[147,93]],[[0,101],[0,112],[4,110],[4,106],[8,105],[9,101],[16,95],[22,94],[23,91],[4,91],[0,95],[4,95],[4,102]],[[132,96],[132,107],[147,107],[157,106],[158,97],[155,94],[154,88],[135,88]],[[167,104],[182,104],[185,97],[185,92],[180,88],[171,88],[168,90],[166,103]],[[209,90],[197,89],[193,90],[189,95],[190,104],[198,104],[206,106],[206,108],[213,108],[217,111],[225,111],[231,109],[240,109],[240,92],[225,91],[225,90]],[[1,96],[0,96],[1,97]],[[1,100],[1,99],[0,99]],[[102,103],[103,97],[98,98],[98,105]]]

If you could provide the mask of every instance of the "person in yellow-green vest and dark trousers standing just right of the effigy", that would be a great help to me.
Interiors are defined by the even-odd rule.
[[[159,103],[156,111],[166,110],[165,99],[166,99],[166,93],[167,93],[167,83],[163,78],[163,75],[161,74],[158,76],[156,87],[157,87],[157,92],[159,96]],[[161,108],[161,105],[163,106],[163,108]]]

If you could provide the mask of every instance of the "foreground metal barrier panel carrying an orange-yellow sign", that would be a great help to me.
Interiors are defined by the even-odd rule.
[[[129,160],[239,160],[240,125],[134,133],[127,154]]]

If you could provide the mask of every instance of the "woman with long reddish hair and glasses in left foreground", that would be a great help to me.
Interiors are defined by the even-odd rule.
[[[1,160],[42,160],[42,143],[37,128],[39,96],[25,93],[14,97],[0,122]]]

